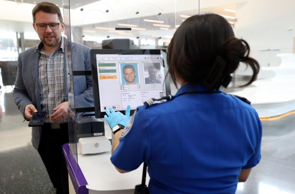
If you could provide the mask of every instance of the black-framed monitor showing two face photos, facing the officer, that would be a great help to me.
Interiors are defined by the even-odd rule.
[[[111,107],[135,110],[148,99],[171,93],[169,77],[165,83],[166,50],[92,49],[90,54],[96,118]]]

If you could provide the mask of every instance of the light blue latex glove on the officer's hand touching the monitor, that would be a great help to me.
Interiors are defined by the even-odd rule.
[[[125,115],[121,112],[117,111],[115,112],[114,109],[110,108],[110,111],[108,109],[105,110],[107,115],[104,115],[105,120],[108,122],[108,125],[111,127],[111,129],[118,125],[124,125],[126,126],[127,123],[130,120],[130,105],[127,106]]]

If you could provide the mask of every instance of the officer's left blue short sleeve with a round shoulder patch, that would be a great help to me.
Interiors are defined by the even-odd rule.
[[[144,109],[130,119],[112,153],[113,165],[122,170],[135,170],[146,161],[150,153],[149,118]]]

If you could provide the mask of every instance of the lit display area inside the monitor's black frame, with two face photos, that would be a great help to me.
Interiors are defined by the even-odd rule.
[[[101,112],[136,109],[166,94],[162,55],[96,54],[96,65]]]

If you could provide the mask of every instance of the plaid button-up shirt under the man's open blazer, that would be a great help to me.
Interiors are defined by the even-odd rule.
[[[60,48],[54,50],[50,56],[43,52],[43,43],[36,48],[39,53],[39,89],[42,111],[47,112],[45,122],[52,122],[49,118],[54,113],[53,108],[65,102],[64,84],[64,45],[65,38],[61,37]],[[68,68],[68,64],[67,64]],[[58,123],[66,123],[68,119]]]

